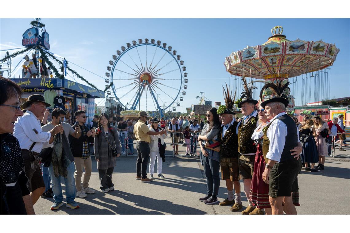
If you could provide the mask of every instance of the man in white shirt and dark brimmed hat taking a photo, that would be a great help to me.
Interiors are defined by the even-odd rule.
[[[62,125],[55,126],[49,132],[43,132],[40,126],[40,118],[44,115],[50,104],[45,102],[42,95],[31,95],[22,104],[27,112],[15,122],[13,136],[16,137],[22,149],[25,163],[25,172],[29,180],[30,197],[33,205],[45,191],[45,184],[41,172],[38,156],[44,144],[50,144],[57,133],[63,133]]]

